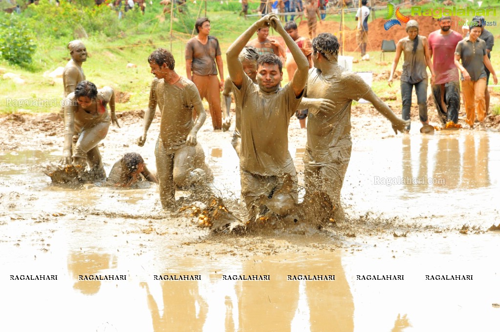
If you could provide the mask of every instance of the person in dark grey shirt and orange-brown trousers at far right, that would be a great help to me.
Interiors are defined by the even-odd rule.
[[[486,52],[486,43],[479,38],[481,21],[472,20],[469,26],[468,37],[458,42],[455,49],[455,66],[461,72],[463,104],[465,106],[465,122],[470,128],[474,127],[475,112],[479,125],[484,127],[486,116],[484,90],[486,89],[486,67],[493,75],[496,84],[495,71],[489,62]],[[461,63],[460,63],[461,60]]]

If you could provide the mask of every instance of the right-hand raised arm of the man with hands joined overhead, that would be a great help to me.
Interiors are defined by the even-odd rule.
[[[293,74],[293,78],[290,81],[290,86],[293,89],[295,97],[302,94],[304,90],[305,83],[307,81],[307,73],[309,71],[309,61],[305,57],[304,53],[298,48],[298,45],[291,39],[290,35],[285,31],[283,25],[278,16],[275,14],[269,14],[269,20],[272,27],[283,37],[283,40],[293,56],[293,60],[297,64],[297,70]]]

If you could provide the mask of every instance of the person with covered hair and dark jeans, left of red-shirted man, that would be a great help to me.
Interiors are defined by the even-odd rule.
[[[401,53],[404,53],[403,71],[401,73],[401,99],[402,99],[402,118],[409,120],[411,108],[411,92],[415,87],[416,102],[418,104],[418,115],[422,126],[428,125],[427,119],[427,71],[429,67],[431,78],[430,84],[434,84],[434,70],[430,62],[429,47],[427,38],[418,35],[418,22],[410,19],[406,23],[406,33],[408,36],[399,39],[396,47],[396,55],[392,62],[390,75],[387,83],[391,86],[394,79],[394,71]],[[410,129],[408,124],[407,130]]]

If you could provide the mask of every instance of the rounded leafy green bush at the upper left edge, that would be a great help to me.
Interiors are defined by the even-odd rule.
[[[15,14],[0,14],[0,57],[10,63],[31,63],[36,45],[28,26]]]

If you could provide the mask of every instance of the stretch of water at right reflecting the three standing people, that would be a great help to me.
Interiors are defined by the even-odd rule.
[[[356,140],[342,197],[359,215],[370,211],[442,226],[489,227],[499,217],[498,138],[498,133],[460,130]]]

